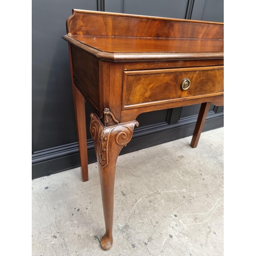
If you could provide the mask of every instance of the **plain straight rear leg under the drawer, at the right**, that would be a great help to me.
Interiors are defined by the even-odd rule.
[[[202,133],[203,127],[204,127],[204,123],[205,123],[205,119],[208,113],[210,107],[210,102],[205,102],[201,104],[201,108],[199,111],[199,115],[197,118],[197,123],[196,123],[196,127],[194,130],[194,134],[190,143],[190,146],[195,148],[197,147],[200,135]]]

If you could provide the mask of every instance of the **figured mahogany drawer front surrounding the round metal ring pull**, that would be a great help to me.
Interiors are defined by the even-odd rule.
[[[190,86],[181,88],[187,78]],[[187,85],[187,84],[185,84]],[[123,71],[123,108],[223,94],[223,66]],[[139,105],[138,105],[139,104]]]

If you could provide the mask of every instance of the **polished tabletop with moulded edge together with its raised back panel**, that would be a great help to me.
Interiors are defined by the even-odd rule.
[[[63,38],[108,61],[223,59],[223,23],[73,10]]]

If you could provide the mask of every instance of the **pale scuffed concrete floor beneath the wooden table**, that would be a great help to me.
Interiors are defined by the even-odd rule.
[[[97,165],[32,181],[32,255],[223,255],[223,128],[120,156],[113,246]]]

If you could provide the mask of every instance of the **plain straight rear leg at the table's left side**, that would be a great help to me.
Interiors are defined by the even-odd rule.
[[[82,178],[82,181],[84,182],[89,180],[87,136],[86,136],[86,107],[85,107],[84,97],[82,96],[82,94],[74,84],[70,44],[69,44],[69,58],[70,58],[72,90],[73,90],[75,116],[76,116],[77,138],[78,138],[80,164],[81,164],[81,178]]]

